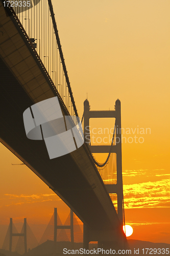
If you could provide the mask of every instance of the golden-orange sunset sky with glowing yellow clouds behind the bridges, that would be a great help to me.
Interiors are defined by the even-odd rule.
[[[80,118],[87,97],[91,110],[114,110],[121,101],[125,218],[134,230],[129,238],[170,243],[170,2],[52,2]],[[93,144],[109,144],[114,120],[91,119],[90,126]],[[63,223],[69,208],[27,166],[11,165],[21,162],[2,144],[0,152],[0,248],[9,218],[19,231],[27,217],[39,241],[54,207]],[[104,162],[106,155],[96,159]]]

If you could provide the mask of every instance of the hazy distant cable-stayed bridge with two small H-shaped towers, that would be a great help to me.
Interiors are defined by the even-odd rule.
[[[27,218],[24,219],[20,232],[18,232],[15,227],[12,218],[10,218],[10,224],[2,249],[23,254],[29,249],[33,249],[45,243],[47,240],[54,242],[70,242],[72,248],[74,248],[74,243],[83,242],[83,231],[80,228],[75,214],[71,210],[66,221],[62,224],[57,208],[54,208],[54,214],[47,224],[39,243],[27,222]]]

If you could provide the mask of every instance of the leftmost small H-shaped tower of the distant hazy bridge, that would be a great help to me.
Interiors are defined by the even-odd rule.
[[[12,252],[12,237],[23,237],[24,239],[24,252],[27,253],[27,218],[24,218],[23,233],[12,232],[12,218],[10,218],[10,242],[9,251]]]

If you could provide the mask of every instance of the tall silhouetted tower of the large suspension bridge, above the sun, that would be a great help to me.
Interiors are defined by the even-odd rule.
[[[122,134],[120,100],[116,100],[114,111],[91,111],[89,101],[87,99],[84,101],[84,137],[86,143],[88,143],[91,153],[109,153],[110,146],[108,145],[91,145],[89,131],[90,118],[115,118],[116,144],[111,146],[111,153],[116,153],[117,183],[106,184],[105,186],[109,194],[117,194],[117,215],[120,223],[123,226]]]

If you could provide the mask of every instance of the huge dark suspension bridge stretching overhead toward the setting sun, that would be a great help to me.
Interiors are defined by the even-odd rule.
[[[52,2],[37,0],[34,4],[33,8],[12,8],[9,1],[0,0],[1,142],[82,220],[85,248],[90,241],[98,241],[103,247],[123,248],[127,240],[123,232],[121,133],[115,135],[120,143],[111,145],[114,150],[105,147],[109,156],[111,152],[118,156],[118,183],[111,189],[117,194],[118,215],[88,140],[76,151],[50,160],[43,140],[26,137],[23,112],[39,101],[57,96],[63,115],[78,116]],[[110,114],[121,127],[119,100]]]

